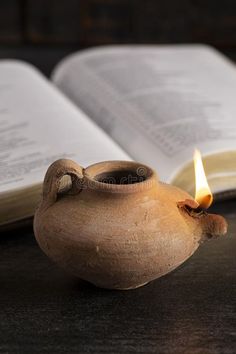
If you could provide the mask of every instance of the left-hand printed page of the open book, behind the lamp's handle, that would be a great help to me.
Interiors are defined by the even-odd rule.
[[[43,181],[50,163],[130,159],[28,64],[0,62],[0,195]]]

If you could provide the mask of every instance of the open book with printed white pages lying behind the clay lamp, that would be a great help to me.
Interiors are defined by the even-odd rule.
[[[33,215],[58,158],[134,159],[193,193],[197,147],[213,192],[236,190],[236,69],[208,46],[85,50],[51,82],[2,60],[0,78],[0,225]]]

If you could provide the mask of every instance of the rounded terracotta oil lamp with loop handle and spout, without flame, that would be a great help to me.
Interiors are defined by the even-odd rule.
[[[59,190],[64,175],[72,181],[67,192]],[[140,163],[83,169],[58,160],[46,173],[34,231],[41,249],[79,278],[130,289],[175,269],[227,224]]]

